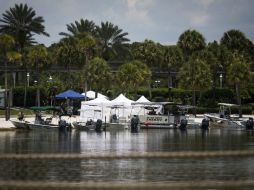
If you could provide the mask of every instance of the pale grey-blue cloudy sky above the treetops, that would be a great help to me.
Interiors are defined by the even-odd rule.
[[[172,45],[188,29],[199,31],[206,42],[238,29],[254,42],[254,0],[0,0],[0,16],[19,3],[44,18],[50,37],[34,37],[46,46],[59,41],[66,24],[81,18],[96,25],[109,21],[128,32],[131,42]]]

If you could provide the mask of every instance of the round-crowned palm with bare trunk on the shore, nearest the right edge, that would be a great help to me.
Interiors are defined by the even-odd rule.
[[[234,54],[232,63],[228,68],[228,80],[235,86],[239,116],[242,117],[241,87],[250,80],[250,67],[242,55]]]

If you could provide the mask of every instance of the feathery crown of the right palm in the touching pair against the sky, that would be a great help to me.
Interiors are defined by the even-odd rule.
[[[117,56],[120,52],[127,52],[127,42],[130,40],[126,37],[127,32],[110,22],[102,22],[96,27],[96,37],[99,40],[101,56],[105,60],[109,60],[113,56]]]

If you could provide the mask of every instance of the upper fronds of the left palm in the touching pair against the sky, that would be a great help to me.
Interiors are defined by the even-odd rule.
[[[95,35],[95,23],[93,21],[89,21],[87,19],[80,19],[80,22],[75,21],[75,23],[67,24],[67,30],[69,33],[60,32],[59,35],[65,37],[74,37],[83,33],[89,33],[91,35]]]

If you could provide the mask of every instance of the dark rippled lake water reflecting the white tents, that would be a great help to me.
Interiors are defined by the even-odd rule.
[[[211,129],[141,130],[95,133],[51,130],[0,132],[0,154],[131,153],[171,151],[254,150],[253,132]],[[169,182],[253,180],[252,157],[1,160],[0,180]]]

